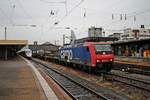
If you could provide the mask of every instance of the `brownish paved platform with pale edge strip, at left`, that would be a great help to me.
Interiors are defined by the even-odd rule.
[[[30,64],[18,56],[0,60],[0,100],[58,100],[52,90],[45,92],[43,85],[50,87],[41,84],[38,77]]]

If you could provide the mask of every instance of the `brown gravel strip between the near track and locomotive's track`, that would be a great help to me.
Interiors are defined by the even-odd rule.
[[[55,66],[54,68],[57,68],[60,71],[70,73],[72,75],[85,79],[89,82],[92,82],[93,84],[96,84],[98,87],[109,88],[120,95],[126,95],[129,99],[133,99],[133,100],[135,99],[136,100],[149,100],[150,99],[150,93],[148,93],[147,91],[142,91],[140,89],[137,89],[137,88],[134,88],[132,86],[125,85],[122,83],[103,80],[103,78],[100,77],[99,75],[95,75],[91,73],[89,74],[83,71],[79,71],[70,67],[64,67],[62,65],[57,65],[54,63],[50,63],[50,62],[45,62],[45,61],[43,62],[49,65]]]

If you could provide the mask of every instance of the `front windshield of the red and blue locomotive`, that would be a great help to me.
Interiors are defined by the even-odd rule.
[[[95,44],[95,51],[97,54],[99,53],[101,54],[103,52],[106,53],[112,52],[110,44]]]

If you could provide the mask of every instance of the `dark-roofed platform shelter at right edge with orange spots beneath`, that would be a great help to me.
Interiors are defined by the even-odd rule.
[[[116,41],[112,47],[115,56],[150,58],[150,39]]]

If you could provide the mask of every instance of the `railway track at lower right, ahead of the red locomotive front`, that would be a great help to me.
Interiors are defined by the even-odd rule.
[[[111,79],[113,81],[118,81],[130,86],[134,86],[146,91],[150,91],[150,81],[139,79],[136,77],[131,77],[127,74],[121,73],[104,73],[104,77],[107,79]]]

